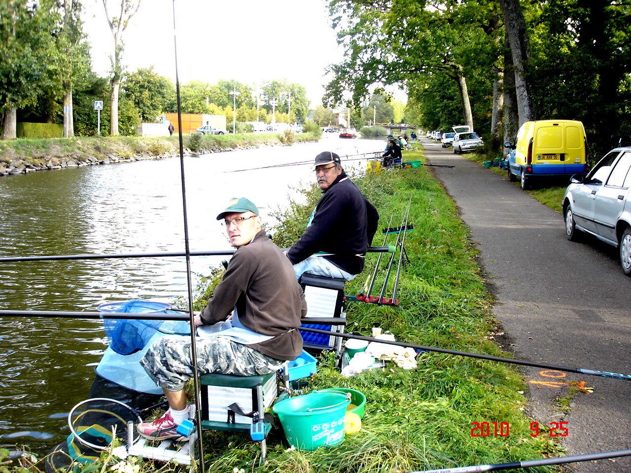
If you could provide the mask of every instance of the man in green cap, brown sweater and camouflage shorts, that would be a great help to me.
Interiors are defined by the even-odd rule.
[[[307,313],[292,264],[262,229],[257,207],[233,198],[217,216],[237,248],[208,305],[195,315],[199,375],[264,375],[302,353],[297,330]],[[167,398],[169,409],[141,423],[151,440],[184,440],[177,426],[189,417],[184,385],[192,378],[190,337],[166,336],[141,359],[144,370]]]

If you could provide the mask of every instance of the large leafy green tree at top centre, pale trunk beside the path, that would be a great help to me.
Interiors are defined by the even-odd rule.
[[[348,90],[358,104],[375,84],[404,84],[410,91],[408,83],[420,74],[444,74],[457,84],[464,123],[473,126],[466,76],[473,64],[497,57],[497,48],[488,46],[488,35],[501,26],[497,12],[479,1],[424,0],[333,0],[330,9],[346,53],[329,67],[334,79],[326,103],[340,103]]]

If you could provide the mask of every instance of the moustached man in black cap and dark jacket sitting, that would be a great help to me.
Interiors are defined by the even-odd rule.
[[[309,272],[350,281],[362,272],[379,214],[346,176],[336,153],[315,156],[315,178],[323,195],[287,257],[298,278]]]

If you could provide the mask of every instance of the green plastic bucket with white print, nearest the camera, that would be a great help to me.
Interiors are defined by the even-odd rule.
[[[315,450],[344,441],[348,398],[340,392],[318,391],[281,400],[272,409],[291,445],[298,450]]]

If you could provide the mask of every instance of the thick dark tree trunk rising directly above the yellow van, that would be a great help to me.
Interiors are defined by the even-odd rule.
[[[536,120],[527,78],[530,49],[526,36],[526,21],[519,0],[500,0],[500,6],[502,13],[504,13],[504,28],[509,39],[514,64],[515,95],[517,97],[519,124],[521,125],[524,122]]]

